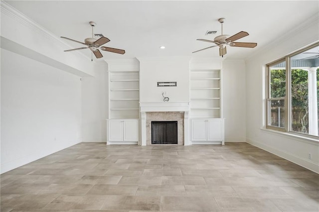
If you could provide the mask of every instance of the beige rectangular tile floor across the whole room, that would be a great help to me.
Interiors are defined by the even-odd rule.
[[[247,143],[79,143],[0,176],[1,212],[319,212],[319,175]]]

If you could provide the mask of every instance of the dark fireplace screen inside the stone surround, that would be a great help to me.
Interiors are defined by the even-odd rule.
[[[177,144],[177,121],[152,121],[152,144]]]

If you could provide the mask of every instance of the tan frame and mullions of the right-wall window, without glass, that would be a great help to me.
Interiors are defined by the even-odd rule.
[[[273,61],[271,63],[268,63],[266,64],[266,123],[265,123],[265,126],[266,126],[266,129],[271,129],[271,130],[276,130],[276,131],[281,131],[281,132],[286,132],[286,133],[289,133],[291,135],[298,135],[298,136],[302,136],[302,137],[305,137],[305,138],[312,138],[312,139],[319,139],[319,136],[316,136],[316,135],[309,135],[309,134],[305,134],[305,133],[301,133],[301,132],[295,132],[295,131],[292,131],[292,126],[291,126],[291,121],[292,121],[292,93],[291,93],[291,75],[292,75],[292,69],[291,69],[291,58],[295,55],[298,55],[298,54],[301,54],[309,49],[312,49],[314,47],[317,47],[319,46],[319,42],[316,42],[312,45],[309,45],[305,48],[302,48],[298,51],[295,51],[289,55],[286,55],[285,57],[282,57],[276,61]],[[270,87],[270,67],[271,66],[274,66],[278,63],[282,63],[282,62],[285,62],[286,63],[286,95],[285,95],[285,127],[277,127],[277,126],[272,126],[272,125],[269,125],[269,115],[270,115],[270,109],[269,108],[269,104],[268,102],[270,100],[276,100],[276,99],[281,99],[281,98],[271,98],[270,95],[271,95],[271,87]],[[317,103],[319,104],[319,103]]]

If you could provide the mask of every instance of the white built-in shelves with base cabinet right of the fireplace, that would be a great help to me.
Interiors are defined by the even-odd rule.
[[[224,144],[221,62],[195,62],[190,66],[191,143]]]

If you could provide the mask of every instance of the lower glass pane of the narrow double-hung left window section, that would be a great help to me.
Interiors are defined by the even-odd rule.
[[[268,100],[268,125],[285,127],[285,100]]]

